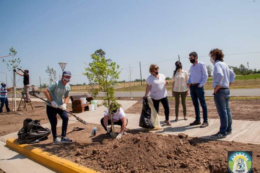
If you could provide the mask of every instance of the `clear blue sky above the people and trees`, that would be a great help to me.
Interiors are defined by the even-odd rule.
[[[211,64],[211,48],[225,54],[260,51],[260,1],[0,1],[0,56],[14,47],[29,69],[31,84],[48,84],[47,65],[58,74],[58,62],[67,62],[71,84],[83,83],[84,63],[90,54],[103,49],[106,57],[123,69],[120,80],[147,78],[151,63],[172,76],[178,54],[183,69],[190,68],[188,54]],[[203,56],[203,57],[201,57]],[[260,69],[260,53],[226,55],[228,65]],[[10,58],[5,58],[6,60]],[[166,60],[166,61],[164,61]],[[10,72],[0,62],[1,72]],[[20,77],[18,77],[19,79]],[[5,75],[0,74],[5,81]],[[22,79],[18,86],[23,86]]]

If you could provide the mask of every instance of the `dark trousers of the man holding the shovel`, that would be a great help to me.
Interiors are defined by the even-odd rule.
[[[53,136],[53,139],[57,138],[57,131],[56,131],[56,126],[57,126],[57,114],[60,115],[62,119],[62,134],[61,136],[66,136],[66,131],[67,131],[67,126],[68,126],[68,114],[66,111],[63,111],[61,109],[53,108],[52,106],[46,106],[46,112],[48,119],[51,123],[51,133]]]

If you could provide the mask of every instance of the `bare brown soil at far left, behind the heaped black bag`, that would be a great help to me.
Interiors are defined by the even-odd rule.
[[[49,123],[49,119],[46,114],[46,104],[44,102],[31,102],[34,106],[34,110],[27,108],[28,111],[23,110],[23,107],[17,112],[6,112],[5,106],[3,108],[3,113],[0,114],[0,136],[6,135],[8,133],[12,133],[20,130],[23,127],[23,120],[26,118],[31,118],[33,120],[40,120],[41,124]],[[19,102],[17,101],[17,108],[19,106]],[[12,109],[12,101],[9,102],[9,108]],[[71,111],[71,104],[68,104],[68,111]],[[18,114],[21,112],[22,114]],[[68,116],[70,116],[68,114]],[[57,116],[58,120],[60,120],[60,116]]]

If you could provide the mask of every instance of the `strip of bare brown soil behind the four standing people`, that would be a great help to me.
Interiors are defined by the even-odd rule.
[[[140,100],[135,98],[136,100]],[[213,98],[206,100],[208,108],[208,118],[218,119],[218,112]],[[260,99],[236,99],[230,100],[229,102],[232,118],[236,120],[248,120],[248,121],[259,121],[260,120]],[[170,116],[175,117],[175,101],[169,99],[170,105]],[[142,101],[138,101],[136,104],[125,110],[125,113],[141,114]],[[194,106],[191,99],[186,100],[187,116],[195,117]],[[202,117],[202,108],[200,107],[200,115]],[[159,115],[164,115],[164,108],[160,103]],[[179,105],[179,117],[183,117],[183,109],[180,103]],[[174,118],[175,119],[175,118]]]

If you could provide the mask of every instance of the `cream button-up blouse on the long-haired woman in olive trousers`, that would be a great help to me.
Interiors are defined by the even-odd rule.
[[[185,70],[181,70],[179,73],[178,70],[174,76],[174,73],[172,74],[172,82],[174,82],[173,91],[175,92],[185,92],[188,91],[187,88],[187,80],[189,78],[188,72]]]

